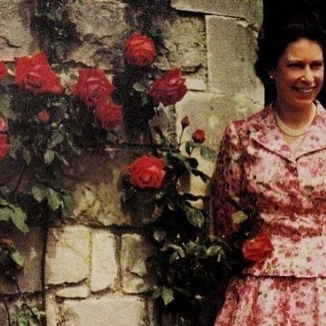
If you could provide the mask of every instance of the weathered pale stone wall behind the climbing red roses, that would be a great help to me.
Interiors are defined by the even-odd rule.
[[[78,1],[77,1],[78,2]],[[72,49],[72,67],[100,67],[112,74],[116,54],[122,50],[122,33],[135,24],[132,1],[84,0],[75,3],[72,19],[81,35]],[[173,138],[180,120],[188,115],[194,129],[206,131],[206,143],[217,148],[226,123],[257,111],[263,87],[254,76],[255,39],[262,20],[262,0],[172,0],[157,8],[154,23],[166,39],[160,52],[161,69],[180,66],[187,77],[188,94],[161,114],[164,129]],[[38,50],[29,28],[32,0],[1,0],[0,49],[7,63],[14,56]],[[160,314],[151,300],[151,272],[146,257],[153,248],[144,227],[153,212],[141,205],[122,207],[121,176],[133,158],[146,151],[146,139],[124,132],[124,144],[106,155],[87,155],[67,171],[74,191],[72,219],[51,228],[46,258],[47,324],[49,326],[160,325]],[[206,173],[213,173],[206,164]],[[206,186],[193,179],[188,188],[205,193]],[[12,235],[12,237],[18,237]],[[21,236],[20,236],[21,239]],[[33,228],[18,247],[27,263],[19,284],[31,301],[41,291],[43,231]],[[6,282],[1,291],[15,303],[15,289]],[[6,325],[0,306],[0,325]]]

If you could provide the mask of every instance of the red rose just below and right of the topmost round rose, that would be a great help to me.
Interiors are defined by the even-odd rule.
[[[156,102],[162,102],[164,106],[173,105],[186,94],[185,82],[186,79],[182,78],[181,70],[175,68],[158,78],[151,86],[149,94]]]

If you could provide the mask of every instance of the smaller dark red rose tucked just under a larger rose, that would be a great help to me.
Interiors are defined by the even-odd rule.
[[[112,130],[122,123],[122,107],[109,101],[98,105],[94,110],[94,116],[102,128]]]

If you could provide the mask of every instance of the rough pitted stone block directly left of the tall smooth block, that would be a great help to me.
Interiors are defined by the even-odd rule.
[[[191,78],[206,80],[207,54],[203,16],[184,17],[171,13],[160,21],[166,50],[161,50],[157,65],[168,70],[181,67]]]

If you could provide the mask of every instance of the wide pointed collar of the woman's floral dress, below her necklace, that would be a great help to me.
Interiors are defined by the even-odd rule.
[[[295,153],[287,145],[282,131],[275,123],[272,105],[265,107],[251,121],[250,138],[292,162],[296,162],[298,157],[307,153],[324,149],[326,148],[326,111],[318,101],[316,101],[316,107],[316,116]]]

